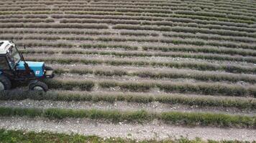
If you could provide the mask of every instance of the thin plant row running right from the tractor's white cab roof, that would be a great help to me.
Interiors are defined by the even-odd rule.
[[[42,42],[42,41],[18,41],[17,44],[25,45],[25,46],[48,46],[48,47],[77,47],[75,44],[67,44],[67,43],[52,43],[52,42]],[[124,49],[132,49],[136,50],[137,46],[128,45],[113,46],[112,44],[81,44],[79,45],[81,48],[124,48]],[[204,47],[204,46],[187,46],[187,45],[176,45],[176,46],[142,46],[143,50],[154,50],[154,51],[185,51],[185,52],[201,52],[201,53],[211,53],[211,54],[230,54],[230,55],[241,55],[241,56],[256,56],[256,51],[250,49],[234,49],[234,48],[223,48],[223,47]]]

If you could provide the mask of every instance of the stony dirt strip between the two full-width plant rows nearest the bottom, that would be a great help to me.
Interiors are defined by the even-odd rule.
[[[148,112],[212,112],[222,114],[239,114],[246,116],[255,116],[256,111],[241,110],[237,108],[224,107],[191,107],[182,104],[163,104],[160,102],[152,103],[134,103],[134,102],[60,102],[42,100],[35,101],[25,99],[22,101],[0,101],[0,107],[22,107],[22,108],[61,108],[61,109],[102,109],[102,110],[120,110],[137,111],[144,109]]]

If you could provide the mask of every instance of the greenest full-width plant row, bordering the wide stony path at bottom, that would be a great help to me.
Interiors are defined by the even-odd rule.
[[[255,128],[256,117],[229,114],[212,114],[198,112],[162,112],[159,114],[146,112],[119,112],[116,110],[98,109],[34,109],[0,107],[0,116],[47,117],[50,119],[88,118],[104,119],[111,122],[150,122],[159,119],[167,124],[186,126],[214,126]]]

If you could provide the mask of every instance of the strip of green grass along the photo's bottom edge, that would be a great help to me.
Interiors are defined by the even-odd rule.
[[[219,143],[219,141],[208,140],[204,141],[202,139],[187,139],[181,137],[180,139],[122,139],[120,137],[110,137],[102,138],[98,136],[83,136],[79,134],[61,134],[55,132],[25,132],[22,130],[6,130],[0,129],[0,140],[1,142],[11,143],[60,143],[60,142],[93,142],[93,143]],[[221,141],[220,143],[245,143],[240,141]]]

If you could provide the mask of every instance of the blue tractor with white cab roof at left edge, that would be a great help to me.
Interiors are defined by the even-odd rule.
[[[0,90],[9,90],[14,84],[28,84],[30,90],[47,92],[42,79],[54,77],[53,69],[44,62],[25,61],[12,41],[0,41]]]

